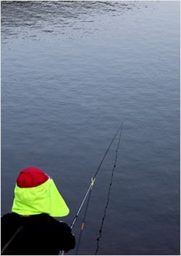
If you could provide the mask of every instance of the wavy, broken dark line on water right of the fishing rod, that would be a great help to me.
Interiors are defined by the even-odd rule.
[[[110,183],[109,183],[109,190],[108,190],[108,193],[107,193],[106,205],[104,207],[104,215],[102,217],[101,226],[100,226],[99,231],[98,231],[99,232],[99,236],[96,239],[97,247],[96,247],[95,255],[97,255],[97,253],[98,253],[99,241],[100,241],[100,239],[102,237],[102,230],[103,230],[103,226],[104,226],[104,220],[105,220],[105,217],[106,217],[106,210],[107,210],[107,207],[109,205],[109,196],[110,196],[110,193],[111,193],[111,185],[112,185],[112,181],[113,181],[113,177],[114,177],[114,170],[115,170],[115,168],[117,166],[117,154],[118,154],[118,151],[119,151],[119,145],[120,145],[120,142],[121,142],[121,136],[122,136],[122,128],[120,130],[119,140],[118,140],[118,143],[117,143],[117,150],[116,150],[116,155],[115,155],[115,159],[114,159],[114,167],[111,170],[111,179],[110,179]]]

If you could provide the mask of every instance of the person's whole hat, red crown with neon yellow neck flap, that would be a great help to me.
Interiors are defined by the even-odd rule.
[[[69,208],[54,180],[36,167],[23,169],[14,188],[12,212],[20,215],[47,213],[52,217],[69,214]]]

